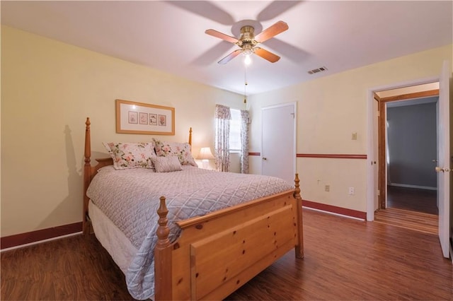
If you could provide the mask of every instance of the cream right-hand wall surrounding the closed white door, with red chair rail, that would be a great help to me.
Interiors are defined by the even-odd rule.
[[[369,89],[440,76],[442,61],[452,61],[452,45],[314,79],[248,98],[251,152],[261,151],[261,108],[297,102],[297,153],[367,154]],[[327,66],[328,67],[328,66]],[[352,140],[357,132],[357,140]],[[251,156],[250,170],[260,174],[261,158]],[[302,198],[365,212],[369,160],[297,158]],[[324,185],[330,185],[330,192]],[[348,195],[355,187],[355,195]]]

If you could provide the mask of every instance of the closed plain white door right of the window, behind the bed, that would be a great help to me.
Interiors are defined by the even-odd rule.
[[[261,173],[293,183],[296,173],[296,102],[263,107],[261,116]]]

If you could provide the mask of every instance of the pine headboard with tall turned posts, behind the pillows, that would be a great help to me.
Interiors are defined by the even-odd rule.
[[[85,148],[84,148],[84,157],[85,157],[85,164],[84,164],[84,217],[82,220],[82,230],[84,231],[84,234],[87,234],[89,231],[88,227],[88,196],[86,196],[86,191],[88,190],[88,186],[91,183],[91,179],[93,179],[94,176],[98,173],[98,170],[101,169],[101,167],[107,166],[107,165],[113,165],[113,159],[108,157],[108,158],[99,158],[95,159],[97,161],[97,164],[95,166],[91,166],[91,131],[90,131],[90,118],[86,117],[86,122],[85,122]],[[190,147],[192,147],[192,127],[189,129],[189,139],[188,143]]]

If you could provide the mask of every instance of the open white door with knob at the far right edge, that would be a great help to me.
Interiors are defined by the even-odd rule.
[[[437,148],[437,203],[439,206],[439,239],[444,257],[449,257],[450,237],[450,110],[449,110],[449,81],[452,76],[449,61],[444,61],[439,83],[439,109],[437,119],[438,148]]]

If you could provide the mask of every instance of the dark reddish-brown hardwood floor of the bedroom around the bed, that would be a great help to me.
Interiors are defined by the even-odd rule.
[[[289,252],[227,300],[453,300],[437,236],[304,208],[304,259]],[[95,237],[1,253],[1,300],[132,300]]]

